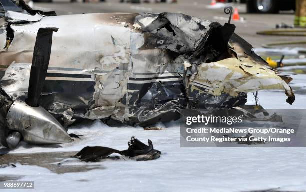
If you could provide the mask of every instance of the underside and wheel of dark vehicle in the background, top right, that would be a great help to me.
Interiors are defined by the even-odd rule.
[[[278,13],[279,10],[295,10],[295,0],[246,0],[248,13]]]

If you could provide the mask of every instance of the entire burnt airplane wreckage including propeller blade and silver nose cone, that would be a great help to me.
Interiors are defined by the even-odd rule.
[[[246,92],[262,89],[294,102],[292,78],[257,56],[230,18],[222,26],[176,13],[56,16],[18,2],[19,12],[2,6],[0,30],[6,147],[70,142],[65,127],[78,118],[148,126],[185,108],[243,106]]]

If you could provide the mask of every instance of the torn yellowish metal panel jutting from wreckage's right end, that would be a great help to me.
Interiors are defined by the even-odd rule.
[[[198,73],[190,80],[190,85],[193,85],[191,91],[200,87],[212,95],[221,95],[224,92],[237,97],[239,92],[284,89],[289,98],[294,96],[290,86],[267,66],[227,58],[201,64],[197,70]]]

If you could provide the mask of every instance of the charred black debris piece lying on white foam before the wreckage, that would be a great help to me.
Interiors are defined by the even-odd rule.
[[[153,143],[148,139],[148,145],[142,143],[140,140],[132,136],[128,142],[127,150],[116,150],[104,146],[86,146],[79,151],[74,158],[78,158],[80,161],[95,162],[101,159],[110,158],[109,155],[117,153],[129,157],[136,161],[155,160],[160,157],[161,152],[155,150]]]

